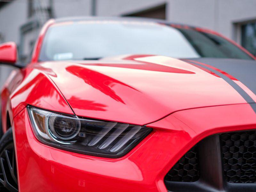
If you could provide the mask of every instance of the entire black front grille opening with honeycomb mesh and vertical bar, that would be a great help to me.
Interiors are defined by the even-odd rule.
[[[206,137],[164,177],[172,192],[256,191],[256,130]]]

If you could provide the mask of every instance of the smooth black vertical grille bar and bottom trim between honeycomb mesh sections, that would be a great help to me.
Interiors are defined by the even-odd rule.
[[[198,144],[200,178],[196,182],[164,180],[169,192],[255,192],[256,183],[229,183],[223,174],[220,134],[214,134]]]

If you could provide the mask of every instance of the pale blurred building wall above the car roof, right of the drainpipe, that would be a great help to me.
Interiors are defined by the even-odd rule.
[[[216,30],[234,40],[234,22],[256,19],[256,0],[97,0],[97,15],[118,16],[164,3],[167,20]]]

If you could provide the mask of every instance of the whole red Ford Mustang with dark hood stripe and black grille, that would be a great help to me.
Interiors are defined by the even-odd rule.
[[[68,18],[1,92],[1,189],[255,191],[256,61],[211,30]],[[6,189],[5,189],[6,188]]]

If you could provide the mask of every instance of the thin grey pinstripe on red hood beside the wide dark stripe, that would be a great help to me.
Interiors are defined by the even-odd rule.
[[[186,60],[184,60],[186,61]],[[210,67],[207,67],[205,65],[199,64],[199,63],[195,63],[191,60],[186,61],[187,63],[193,63],[194,65],[203,67],[205,69],[208,69],[209,71],[212,71],[213,73],[215,73],[216,75],[220,76],[224,81],[226,81],[230,86],[232,86],[243,98],[244,100],[249,103],[252,107],[252,109],[254,110],[254,112],[256,113],[256,105],[254,105],[255,101],[250,97],[250,95],[248,95],[239,85],[237,85],[233,80],[231,80],[230,78],[228,78],[227,76],[223,75],[222,73],[220,73],[219,71],[212,69]]]

